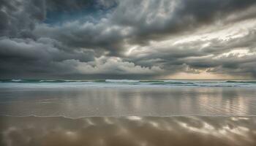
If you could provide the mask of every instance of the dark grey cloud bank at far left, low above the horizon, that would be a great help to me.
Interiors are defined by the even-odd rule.
[[[91,50],[64,50],[61,42],[48,38],[7,39],[0,40],[1,75],[11,77],[48,77],[72,72],[69,66],[58,62],[75,59],[77,61],[94,61]],[[62,49],[62,50],[61,50]],[[12,72],[12,74],[10,74]],[[21,75],[20,75],[21,74]]]

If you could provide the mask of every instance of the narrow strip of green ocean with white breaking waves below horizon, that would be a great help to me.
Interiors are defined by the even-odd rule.
[[[19,84],[15,84],[19,83]],[[20,84],[26,83],[26,84]],[[50,84],[48,84],[50,83]],[[55,83],[55,84],[53,84]],[[248,87],[256,88],[256,80],[0,80],[0,88],[4,87],[52,87],[70,86],[70,87],[128,87],[143,88],[143,87]]]

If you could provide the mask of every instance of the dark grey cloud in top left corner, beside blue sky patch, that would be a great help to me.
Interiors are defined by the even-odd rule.
[[[0,2],[0,35],[7,37],[27,37],[35,23],[45,19],[45,1]]]

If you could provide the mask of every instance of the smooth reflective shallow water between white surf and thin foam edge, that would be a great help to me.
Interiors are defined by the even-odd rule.
[[[256,115],[255,88],[0,88],[0,115]]]

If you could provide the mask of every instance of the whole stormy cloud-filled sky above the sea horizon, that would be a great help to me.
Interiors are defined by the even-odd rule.
[[[1,0],[1,79],[255,79],[255,0]]]

